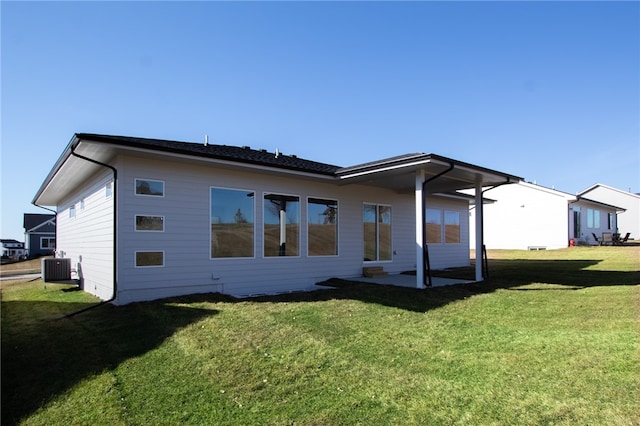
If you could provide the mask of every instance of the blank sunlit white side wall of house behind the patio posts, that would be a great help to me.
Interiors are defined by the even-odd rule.
[[[485,193],[484,243],[488,249],[559,249],[569,241],[568,201],[573,198],[529,183],[504,185]],[[471,247],[475,247],[475,208],[471,210]]]

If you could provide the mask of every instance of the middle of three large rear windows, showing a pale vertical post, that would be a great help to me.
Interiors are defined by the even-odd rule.
[[[295,195],[265,194],[264,255],[298,256],[300,240],[300,198]]]

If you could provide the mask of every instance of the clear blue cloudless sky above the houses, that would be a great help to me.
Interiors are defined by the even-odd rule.
[[[0,2],[2,238],[75,132],[640,192],[638,2]]]

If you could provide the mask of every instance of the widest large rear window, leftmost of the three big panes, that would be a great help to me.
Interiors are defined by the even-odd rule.
[[[211,257],[253,257],[253,191],[211,188]]]

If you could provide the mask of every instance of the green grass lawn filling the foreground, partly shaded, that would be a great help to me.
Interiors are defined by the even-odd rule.
[[[640,425],[640,247],[489,258],[481,284],[70,318],[96,299],[3,284],[2,424]]]

